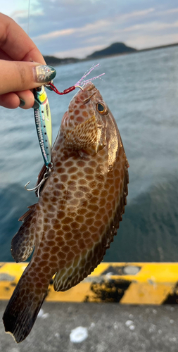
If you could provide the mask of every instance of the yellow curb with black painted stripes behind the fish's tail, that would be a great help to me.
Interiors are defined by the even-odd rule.
[[[0,299],[8,300],[27,263],[0,263]],[[178,263],[101,263],[65,292],[49,285],[46,301],[178,303]]]

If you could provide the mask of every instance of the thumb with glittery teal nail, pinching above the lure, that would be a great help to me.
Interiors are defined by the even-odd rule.
[[[56,70],[40,63],[0,60],[0,94],[37,88],[50,82]]]

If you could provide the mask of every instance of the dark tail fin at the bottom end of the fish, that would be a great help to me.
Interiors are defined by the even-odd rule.
[[[34,279],[29,281],[27,268],[15,287],[3,316],[5,331],[12,334],[17,343],[30,333],[48,289],[48,284],[40,283],[38,287]]]

